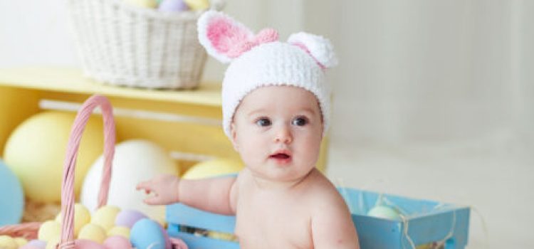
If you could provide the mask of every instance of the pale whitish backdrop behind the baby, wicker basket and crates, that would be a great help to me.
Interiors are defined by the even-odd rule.
[[[340,58],[328,176],[473,207],[468,248],[534,248],[534,1],[229,0]],[[75,65],[62,0],[0,0],[0,66]],[[209,60],[204,79],[221,80]],[[483,225],[485,223],[485,225]]]

